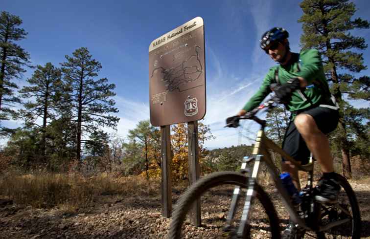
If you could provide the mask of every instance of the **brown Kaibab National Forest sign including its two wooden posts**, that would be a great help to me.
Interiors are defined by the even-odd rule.
[[[200,174],[198,120],[206,114],[206,71],[203,19],[196,17],[150,43],[150,122],[161,126],[162,215],[171,215],[170,125],[188,122],[190,183]],[[196,203],[193,224],[200,225]],[[199,219],[197,219],[199,218]]]

